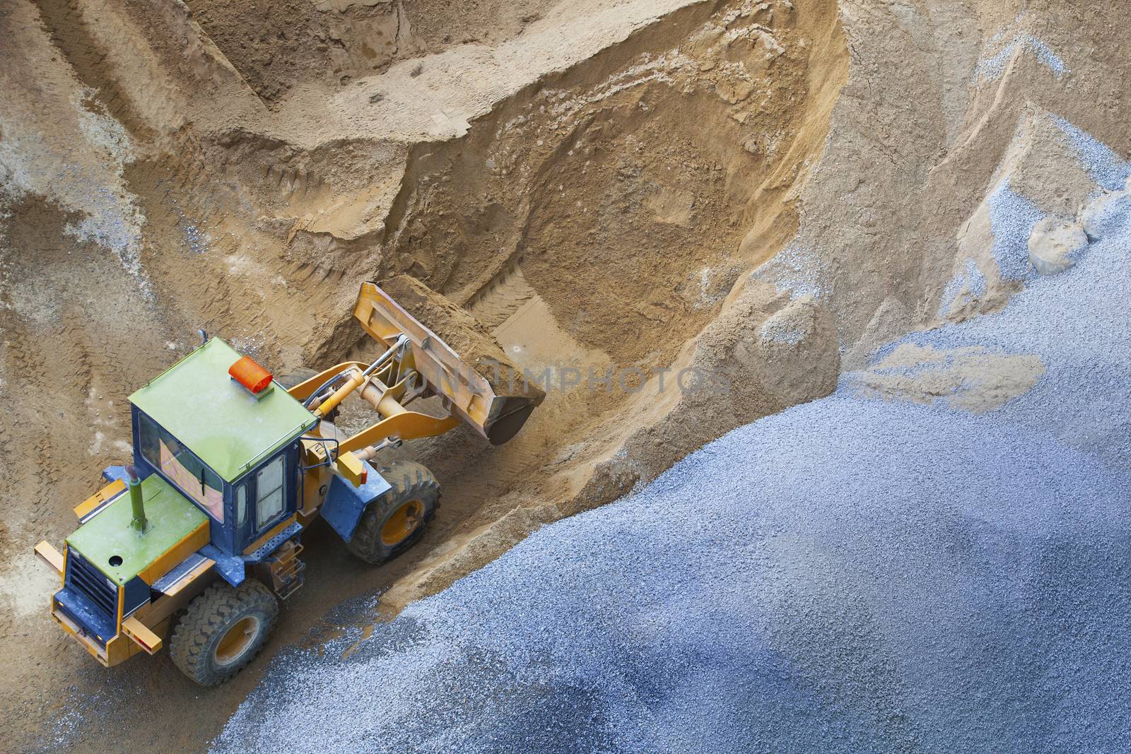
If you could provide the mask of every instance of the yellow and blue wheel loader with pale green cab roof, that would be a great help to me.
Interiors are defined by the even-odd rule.
[[[130,396],[132,462],[103,471],[62,552],[35,547],[60,578],[52,617],[102,665],[167,645],[192,681],[224,683],[302,587],[316,518],[370,563],[420,538],[440,488],[420,463],[382,462],[386,451],[460,422],[506,442],[541,399],[506,395],[372,283],[354,317],[379,343],[371,363],[280,382],[205,336]],[[345,436],[333,419],[351,395],[375,421]],[[432,396],[439,416],[406,408]]]

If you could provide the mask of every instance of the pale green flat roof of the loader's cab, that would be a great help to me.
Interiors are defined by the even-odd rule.
[[[227,482],[318,423],[282,385],[256,396],[233,380],[227,369],[239,358],[211,338],[130,396]]]

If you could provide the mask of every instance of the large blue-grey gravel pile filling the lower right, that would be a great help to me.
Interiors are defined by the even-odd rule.
[[[1128,289],[1124,231],[907,339],[1038,354],[1027,395],[742,427],[345,659],[282,653],[215,749],[1131,749]]]

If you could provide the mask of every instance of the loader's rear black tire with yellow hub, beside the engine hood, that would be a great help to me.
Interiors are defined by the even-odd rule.
[[[259,653],[278,614],[275,595],[258,581],[239,588],[214,583],[189,603],[169,653],[181,673],[201,686],[218,686]]]

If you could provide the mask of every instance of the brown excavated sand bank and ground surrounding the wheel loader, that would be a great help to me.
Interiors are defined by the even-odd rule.
[[[547,393],[504,447],[400,449],[444,487],[411,555],[374,572],[311,530],[273,647],[343,599],[434,593],[841,367],[967,410],[1026,393],[1036,349],[877,349],[1001,310],[1119,214],[1126,175],[1083,135],[1131,150],[1120,21],[1051,0],[9,0],[0,638],[43,639],[11,659],[6,728],[136,743],[144,697],[169,721],[153,748],[199,747],[254,682],[107,676],[53,631],[31,556],[200,327],[278,373],[362,357],[357,285],[407,274]]]

